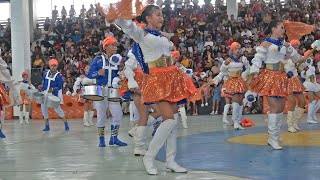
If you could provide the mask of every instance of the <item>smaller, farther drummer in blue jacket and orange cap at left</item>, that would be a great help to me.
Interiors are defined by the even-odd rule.
[[[56,59],[51,59],[49,61],[50,70],[45,71],[43,73],[43,83],[39,85],[39,89],[42,89],[43,93],[45,94],[45,97],[50,95],[59,97],[60,104],[63,104],[63,97],[62,97],[63,78],[60,72],[57,71],[58,65],[59,63]],[[67,119],[64,115],[63,110],[61,109],[60,106],[58,108],[54,108],[54,110],[59,115],[59,117],[62,118],[64,122],[64,129],[68,131],[69,124],[67,122]],[[45,128],[43,129],[43,131],[50,131],[48,106],[46,103],[41,104],[41,111],[45,121]]]

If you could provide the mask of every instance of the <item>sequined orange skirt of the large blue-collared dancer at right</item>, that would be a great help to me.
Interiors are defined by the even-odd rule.
[[[263,96],[288,95],[288,77],[283,71],[271,71],[265,69],[261,71],[257,78],[253,79],[251,91]]]

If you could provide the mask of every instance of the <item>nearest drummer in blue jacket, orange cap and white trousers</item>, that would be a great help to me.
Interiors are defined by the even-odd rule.
[[[95,57],[92,61],[88,77],[96,80],[96,84],[104,87],[111,87],[114,77],[119,70],[119,58],[111,58],[117,52],[117,40],[113,36],[108,36],[103,40],[103,49],[106,54]],[[110,59],[108,59],[110,58]],[[112,61],[111,61],[112,59]],[[111,72],[109,73],[109,70]],[[111,78],[108,78],[108,75]],[[110,110],[112,115],[111,137],[109,145],[127,146],[126,143],[118,139],[118,132],[122,122],[123,112],[120,103],[109,103],[107,98],[102,101],[95,101],[94,107],[97,110],[97,127],[99,133],[99,147],[105,147],[104,129],[107,122],[106,111]]]

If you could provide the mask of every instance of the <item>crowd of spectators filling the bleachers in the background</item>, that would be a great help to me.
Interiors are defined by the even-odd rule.
[[[272,19],[314,25],[314,32],[301,39],[301,54],[313,40],[320,39],[320,1],[317,0],[286,0],[285,3],[280,0],[269,3],[252,0],[249,4],[241,0],[237,18],[227,15],[227,8],[221,0],[216,0],[215,6],[211,0],[205,0],[202,6],[198,5],[198,0],[156,0],[155,3],[163,10],[162,30],[172,33],[171,41],[180,51],[177,61],[193,69],[192,79],[197,87],[220,72],[221,63],[228,57],[233,41],[242,45],[241,53],[250,61],[255,48],[265,38],[263,31]],[[76,77],[84,73],[84,67],[90,65],[97,54],[102,53],[101,44],[106,36],[114,35],[119,40],[118,53],[123,56],[123,62],[132,45],[132,40],[118,28],[105,25],[93,5],[88,10],[83,6],[79,16],[76,14],[73,6],[69,14],[65,7],[60,14],[55,7],[52,18],[45,21],[43,31],[39,26],[35,29],[35,37],[39,40],[31,45],[32,68],[43,71],[49,59],[59,61],[59,71],[65,81],[64,93],[72,91]],[[42,39],[41,34],[45,34]],[[0,26],[0,45],[1,56],[10,64],[10,21],[5,29]],[[192,108],[191,114],[197,114],[199,108],[211,106],[214,101],[214,104],[219,104],[212,98],[219,91],[221,85],[205,89],[203,98],[196,102],[198,108]],[[247,104],[245,112],[261,113],[261,106],[261,98],[258,98],[255,105]]]

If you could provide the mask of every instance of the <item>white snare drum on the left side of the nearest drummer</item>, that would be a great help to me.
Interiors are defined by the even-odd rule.
[[[91,101],[102,101],[104,99],[103,86],[90,85],[83,87],[83,98]]]

